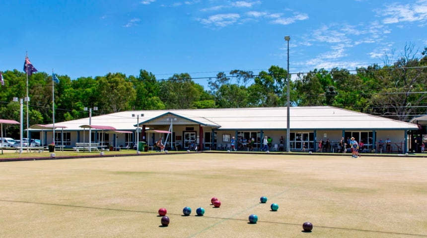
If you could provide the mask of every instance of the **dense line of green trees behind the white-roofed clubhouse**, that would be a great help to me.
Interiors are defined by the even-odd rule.
[[[354,110],[407,121],[427,113],[427,48],[417,57],[410,49],[395,62],[350,71],[314,69],[292,75],[291,106],[320,106]],[[227,75],[228,73],[228,75]],[[127,110],[246,108],[286,106],[286,69],[268,71],[232,70],[209,78],[208,88],[195,83],[188,73],[159,80],[140,70],[138,76],[108,73],[75,80],[58,75],[55,83],[55,120],[87,117],[84,107],[98,107],[96,114]],[[2,119],[19,120],[19,103],[26,96],[26,74],[3,72],[0,90]],[[31,124],[52,123],[52,75],[37,72],[29,77],[29,120]],[[24,105],[25,107],[25,105]],[[26,111],[26,109],[24,109]]]

